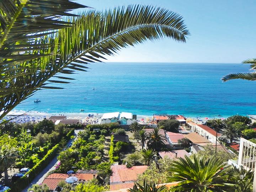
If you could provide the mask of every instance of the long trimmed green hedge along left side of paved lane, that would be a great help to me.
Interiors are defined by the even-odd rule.
[[[74,129],[70,130],[68,134],[66,134],[65,138],[70,139],[71,135],[74,134]],[[26,188],[31,181],[49,164],[50,161],[56,156],[59,150],[59,144],[55,145],[52,149],[50,149],[47,154],[41,159],[35,166],[32,167],[23,177],[18,179],[15,183],[11,185],[11,192],[22,191]],[[27,177],[29,175],[29,177]]]

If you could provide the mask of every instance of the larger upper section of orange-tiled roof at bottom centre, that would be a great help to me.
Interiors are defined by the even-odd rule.
[[[111,165],[112,176],[110,176],[110,183],[136,181],[137,176],[142,174],[148,166],[133,166],[127,168],[126,165]]]

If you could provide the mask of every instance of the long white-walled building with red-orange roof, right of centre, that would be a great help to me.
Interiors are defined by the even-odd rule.
[[[216,132],[212,128],[206,125],[196,124],[192,122],[188,123],[188,126],[193,132],[196,132],[197,134],[202,135],[204,138],[207,138],[210,142],[213,142],[213,143],[216,142]],[[220,137],[220,136],[221,134],[217,133],[217,137]]]

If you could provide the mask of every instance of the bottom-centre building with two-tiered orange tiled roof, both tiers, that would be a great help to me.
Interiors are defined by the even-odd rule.
[[[110,176],[110,190],[121,188],[132,188],[139,174],[143,174],[148,166],[133,166],[127,168],[126,165],[111,165],[112,175]]]

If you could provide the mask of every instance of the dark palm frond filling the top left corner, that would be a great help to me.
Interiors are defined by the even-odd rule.
[[[33,59],[33,50],[50,46],[39,44],[39,39],[71,26],[71,22],[60,18],[76,16],[69,11],[82,7],[86,6],[70,0],[0,1],[0,66]]]

